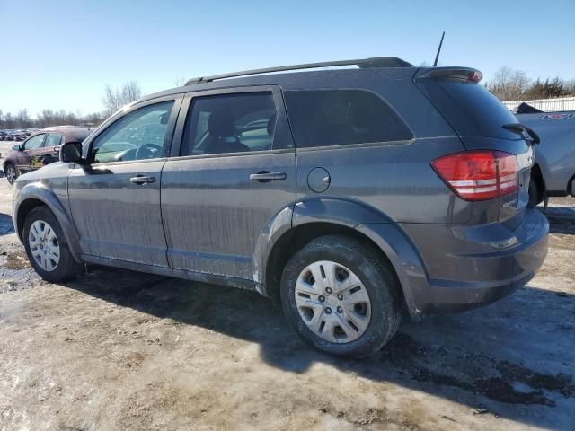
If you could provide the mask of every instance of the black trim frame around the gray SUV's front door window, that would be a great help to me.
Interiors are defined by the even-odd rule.
[[[176,139],[176,135],[174,132],[175,132],[176,120],[178,119],[178,116],[180,114],[182,100],[183,100],[183,94],[177,93],[177,94],[171,94],[169,96],[158,97],[158,98],[155,98],[155,99],[152,99],[149,101],[137,103],[137,104],[131,106],[129,108],[129,110],[125,110],[125,111],[120,110],[115,115],[111,116],[111,118],[104,121],[102,126],[98,129],[96,129],[96,132],[93,134],[93,136],[90,136],[89,139],[86,139],[84,141],[84,143],[82,145],[82,156],[88,160],[89,164],[96,164],[93,162],[93,160],[91,160],[91,158],[92,158],[93,143],[98,138],[98,136],[101,136],[102,133],[104,133],[106,130],[108,130],[108,128],[111,128],[111,126],[113,124],[115,124],[120,119],[123,119],[124,117],[129,115],[131,112],[134,112],[135,110],[139,110],[140,108],[145,108],[146,106],[155,105],[158,103],[163,103],[164,101],[173,101],[172,112],[170,113],[170,118],[168,119],[166,133],[164,136],[164,145],[162,147],[162,156],[160,158],[168,157],[173,145],[175,144],[174,140]],[[179,142],[177,144],[179,146]],[[116,164],[116,163],[135,163],[135,162],[147,162],[150,160],[157,160],[157,158],[155,158],[155,159],[143,159],[143,160],[139,160],[139,161],[138,160],[127,160],[127,161],[113,162],[113,163],[114,164]],[[109,162],[106,162],[106,163],[109,163]],[[97,164],[102,164],[102,163],[97,163]]]

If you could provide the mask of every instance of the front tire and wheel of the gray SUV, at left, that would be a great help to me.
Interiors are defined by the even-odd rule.
[[[36,207],[26,217],[22,241],[32,268],[51,283],[75,277],[82,264],[75,261],[66,237],[49,207]]]

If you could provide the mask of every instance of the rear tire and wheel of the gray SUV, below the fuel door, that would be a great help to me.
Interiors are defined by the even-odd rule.
[[[292,328],[333,356],[376,353],[394,336],[403,298],[394,270],[364,242],[326,235],[289,259],[281,303]]]

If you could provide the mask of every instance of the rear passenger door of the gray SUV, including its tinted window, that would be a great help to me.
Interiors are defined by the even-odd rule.
[[[296,198],[296,158],[277,87],[196,92],[162,175],[171,266],[253,280],[258,236]]]

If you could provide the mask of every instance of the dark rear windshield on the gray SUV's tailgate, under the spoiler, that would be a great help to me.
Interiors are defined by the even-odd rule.
[[[425,78],[417,84],[460,136],[521,138],[502,128],[504,124],[517,123],[517,119],[481,84],[448,78]]]

